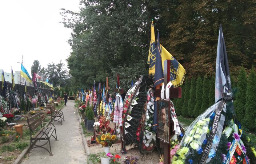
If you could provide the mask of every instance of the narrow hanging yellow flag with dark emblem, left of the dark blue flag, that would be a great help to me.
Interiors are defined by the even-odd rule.
[[[155,31],[154,31],[154,21],[151,21],[151,39],[150,39],[150,47],[148,53],[148,61],[149,64],[149,75],[155,74],[155,61],[156,61],[156,42],[155,42]]]

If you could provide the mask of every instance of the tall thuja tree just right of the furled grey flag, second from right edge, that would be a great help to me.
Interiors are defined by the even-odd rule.
[[[241,67],[238,75],[237,83],[238,92],[234,100],[234,108],[238,121],[242,121],[245,115],[245,102],[246,102],[246,89],[247,89],[247,76],[246,71]]]

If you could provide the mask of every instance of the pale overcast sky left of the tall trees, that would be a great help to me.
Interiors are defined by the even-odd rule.
[[[60,21],[60,8],[79,11],[79,0],[1,0],[0,1],[0,69],[20,71],[23,65],[30,73],[37,59],[41,68],[49,62],[66,65],[71,47],[67,43],[71,29]]]

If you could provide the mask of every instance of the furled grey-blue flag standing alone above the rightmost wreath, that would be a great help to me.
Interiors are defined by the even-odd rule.
[[[222,93],[228,93],[231,91],[232,89],[226,45],[222,33],[222,27],[220,25],[216,59],[215,102],[222,98]]]

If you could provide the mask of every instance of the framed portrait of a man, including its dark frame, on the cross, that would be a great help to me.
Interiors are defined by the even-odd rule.
[[[170,144],[170,100],[157,101],[158,138]]]

